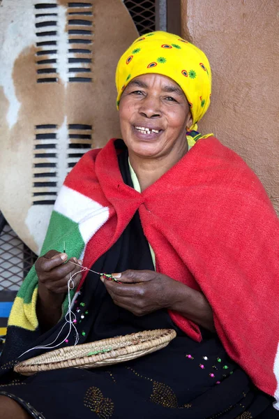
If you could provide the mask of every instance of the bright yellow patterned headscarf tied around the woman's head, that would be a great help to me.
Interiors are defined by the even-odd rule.
[[[197,122],[209,108],[211,96],[211,68],[204,52],[179,36],[164,31],[140,36],[117,64],[117,108],[130,80],[148,73],[166,75],[179,84],[193,115],[193,125],[189,131],[197,131]],[[212,134],[202,137],[209,135]],[[194,136],[187,135],[189,145],[195,143]]]

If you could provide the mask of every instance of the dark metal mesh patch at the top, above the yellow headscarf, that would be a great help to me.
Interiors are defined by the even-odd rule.
[[[155,31],[156,0],[124,0],[140,35]]]

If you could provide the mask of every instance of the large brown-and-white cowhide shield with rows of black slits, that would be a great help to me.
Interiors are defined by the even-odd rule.
[[[36,253],[68,171],[120,135],[114,73],[136,37],[121,0],[1,2],[0,210]]]

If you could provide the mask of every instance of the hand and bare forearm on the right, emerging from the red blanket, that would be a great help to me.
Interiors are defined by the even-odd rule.
[[[215,331],[209,302],[199,291],[179,281],[149,270],[126,270],[112,274],[121,284],[101,277],[114,304],[131,311],[135,316],[144,316],[158,309],[178,311],[182,316]]]

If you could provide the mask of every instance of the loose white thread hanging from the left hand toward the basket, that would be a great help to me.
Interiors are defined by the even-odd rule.
[[[72,328],[75,330],[75,344],[74,344],[74,346],[77,345],[78,341],[80,340],[80,337],[77,333],[77,328],[75,327],[75,323],[74,323],[77,320],[77,318],[75,316],[75,313],[73,313],[73,311],[72,311],[72,302],[70,300],[70,291],[75,288],[75,283],[73,281],[73,277],[75,277],[76,274],[80,274],[80,272],[84,272],[85,270],[88,270],[88,268],[80,266],[77,263],[75,263],[75,265],[79,266],[81,268],[81,270],[78,271],[78,272],[75,272],[75,274],[73,274],[73,275],[70,274],[70,279],[68,280],[68,310],[65,314],[66,323],[63,324],[59,334],[56,336],[54,341],[50,342],[50,344],[47,344],[47,345],[44,345],[44,346],[34,346],[33,348],[30,348],[27,351],[25,351],[24,353],[22,353],[18,358],[21,358],[22,355],[24,355],[25,353],[29,353],[30,351],[33,351],[34,349],[54,349],[54,348],[57,348],[58,346],[63,344],[64,341],[66,341],[68,339],[68,337],[70,336],[70,332],[72,331]],[[73,298],[73,302],[75,301],[76,295],[77,295],[77,293],[75,293],[75,296]],[[73,319],[72,319],[72,316],[73,316]],[[70,324],[70,328],[69,328],[68,335],[66,336],[66,338],[63,339],[63,341],[59,342],[59,344],[56,344],[55,346],[50,346],[50,345],[54,344],[56,342],[56,340],[59,338],[59,336],[61,335],[61,332],[63,331],[63,328],[65,328],[67,323]]]

